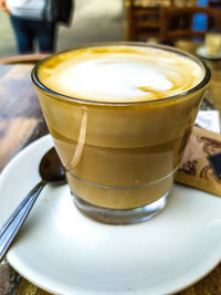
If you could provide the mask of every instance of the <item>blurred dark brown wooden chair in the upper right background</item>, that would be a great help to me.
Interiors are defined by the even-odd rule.
[[[193,30],[196,14],[207,18],[206,30]],[[211,24],[212,23],[212,24]],[[221,10],[209,7],[183,7],[160,9],[160,42],[169,43],[177,40],[202,39],[207,31],[221,31]]]

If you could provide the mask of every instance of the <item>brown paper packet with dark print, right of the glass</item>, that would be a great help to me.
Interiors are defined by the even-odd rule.
[[[221,196],[221,179],[217,176],[214,164],[211,165],[209,160],[211,156],[219,154],[221,135],[194,126],[175,181]]]

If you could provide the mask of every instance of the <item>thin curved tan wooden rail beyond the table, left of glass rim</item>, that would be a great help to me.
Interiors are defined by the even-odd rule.
[[[35,53],[35,54],[19,54],[7,57],[0,57],[0,64],[35,64],[43,60],[49,54]]]

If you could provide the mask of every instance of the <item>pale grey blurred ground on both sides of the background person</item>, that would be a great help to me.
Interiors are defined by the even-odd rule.
[[[56,50],[124,39],[124,0],[75,0],[69,28],[59,25]],[[18,54],[9,17],[0,10],[0,56]]]

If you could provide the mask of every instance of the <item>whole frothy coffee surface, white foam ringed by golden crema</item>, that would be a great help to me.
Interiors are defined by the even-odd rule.
[[[198,85],[202,67],[157,48],[95,46],[63,52],[38,70],[48,88],[95,102],[143,102],[173,96]]]

